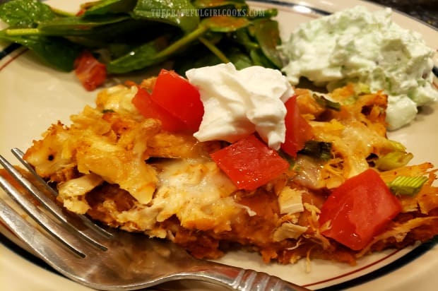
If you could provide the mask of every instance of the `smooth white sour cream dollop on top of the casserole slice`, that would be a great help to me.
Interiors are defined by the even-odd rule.
[[[199,141],[233,143],[256,131],[274,150],[284,143],[284,102],[294,91],[280,71],[262,66],[237,70],[228,63],[190,69],[186,76],[203,102],[203,119],[194,133]]]

